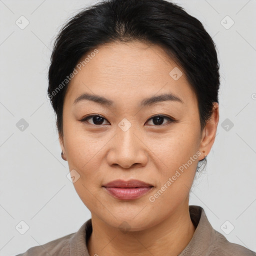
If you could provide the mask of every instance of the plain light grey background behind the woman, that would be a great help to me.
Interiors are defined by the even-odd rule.
[[[66,177],[46,90],[54,36],[95,2],[0,0],[0,255],[76,232],[90,218]],[[213,37],[221,75],[217,136],[189,204],[201,205],[229,241],[256,251],[256,0],[175,2]],[[21,15],[29,21],[24,29],[15,24]],[[229,29],[221,24],[226,15],[234,21]],[[23,131],[16,127],[21,118],[29,124]],[[221,126],[226,118],[234,124],[229,130]],[[24,234],[15,228],[21,220],[29,226]],[[229,234],[221,229],[226,220],[234,226]]]

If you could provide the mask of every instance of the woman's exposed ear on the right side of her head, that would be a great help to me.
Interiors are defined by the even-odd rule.
[[[204,155],[208,155],[210,149],[215,140],[219,119],[218,103],[213,102],[213,110],[209,120],[206,121],[205,127],[202,131],[202,137],[200,142],[199,151],[202,152],[202,156],[199,160],[204,158]]]

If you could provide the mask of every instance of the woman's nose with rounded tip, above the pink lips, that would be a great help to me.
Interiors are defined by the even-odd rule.
[[[109,145],[107,154],[109,166],[130,169],[134,166],[145,166],[148,161],[147,146],[132,126],[126,131],[117,127],[116,134]]]

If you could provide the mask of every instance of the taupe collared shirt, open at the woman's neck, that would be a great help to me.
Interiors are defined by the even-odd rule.
[[[213,229],[202,207],[189,205],[189,213],[196,226],[195,232],[190,242],[177,256],[256,256],[252,250],[229,242],[221,233]],[[94,256],[89,255],[86,246],[86,240],[91,232],[90,218],[77,232],[31,247],[16,256]]]

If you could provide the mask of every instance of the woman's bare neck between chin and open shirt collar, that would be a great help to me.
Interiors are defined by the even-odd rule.
[[[87,241],[89,255],[178,255],[189,243],[195,227],[188,202],[158,224],[149,228],[121,232],[91,215],[92,233]]]

